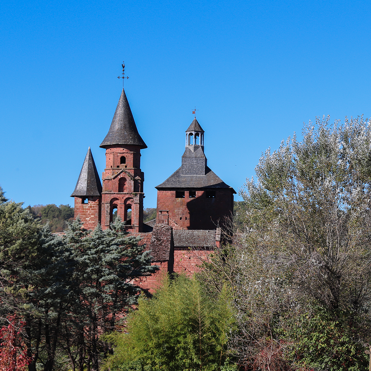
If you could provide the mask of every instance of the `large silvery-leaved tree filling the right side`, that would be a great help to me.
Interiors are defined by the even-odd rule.
[[[206,265],[204,279],[211,289],[229,282],[239,322],[230,345],[246,366],[367,364],[370,148],[371,120],[317,119],[302,141],[294,135],[267,150],[256,181],[240,192],[243,226]]]

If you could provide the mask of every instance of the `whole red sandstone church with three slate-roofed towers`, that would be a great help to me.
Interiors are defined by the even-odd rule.
[[[71,195],[75,216],[86,229],[98,223],[106,229],[117,210],[128,232],[141,237],[151,250],[160,271],[192,274],[200,258],[207,258],[219,246],[236,193],[207,167],[204,131],[196,118],[185,131],[181,167],[156,187],[157,218],[148,223],[143,223],[144,173],[140,168],[140,150],[147,145],[138,133],[124,89],[100,147],[106,149],[103,187],[89,147]],[[151,288],[153,280],[145,277],[141,285]]]

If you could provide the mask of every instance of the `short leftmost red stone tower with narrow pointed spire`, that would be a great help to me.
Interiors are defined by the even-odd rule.
[[[75,217],[84,223],[84,228],[94,229],[101,220],[102,184],[96,170],[90,147],[85,156],[75,190]]]

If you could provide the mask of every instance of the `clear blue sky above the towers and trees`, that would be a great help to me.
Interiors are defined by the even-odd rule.
[[[368,1],[1,1],[0,184],[28,204],[70,204],[125,91],[145,207],[205,130],[210,168],[236,190],[262,151],[316,115],[370,117]],[[236,197],[238,199],[238,197]]]

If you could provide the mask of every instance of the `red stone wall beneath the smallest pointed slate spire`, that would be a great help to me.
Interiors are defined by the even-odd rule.
[[[87,204],[82,203],[84,198],[88,198]],[[101,197],[75,197],[75,218],[77,216],[84,223],[85,229],[94,229],[101,220]]]

